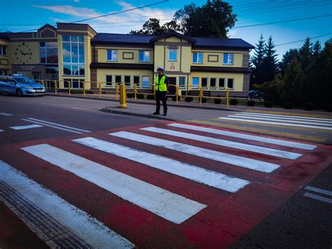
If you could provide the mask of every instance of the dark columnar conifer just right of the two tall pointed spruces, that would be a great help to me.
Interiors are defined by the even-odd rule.
[[[284,101],[299,105],[302,100],[303,71],[298,59],[293,58],[284,74]]]

